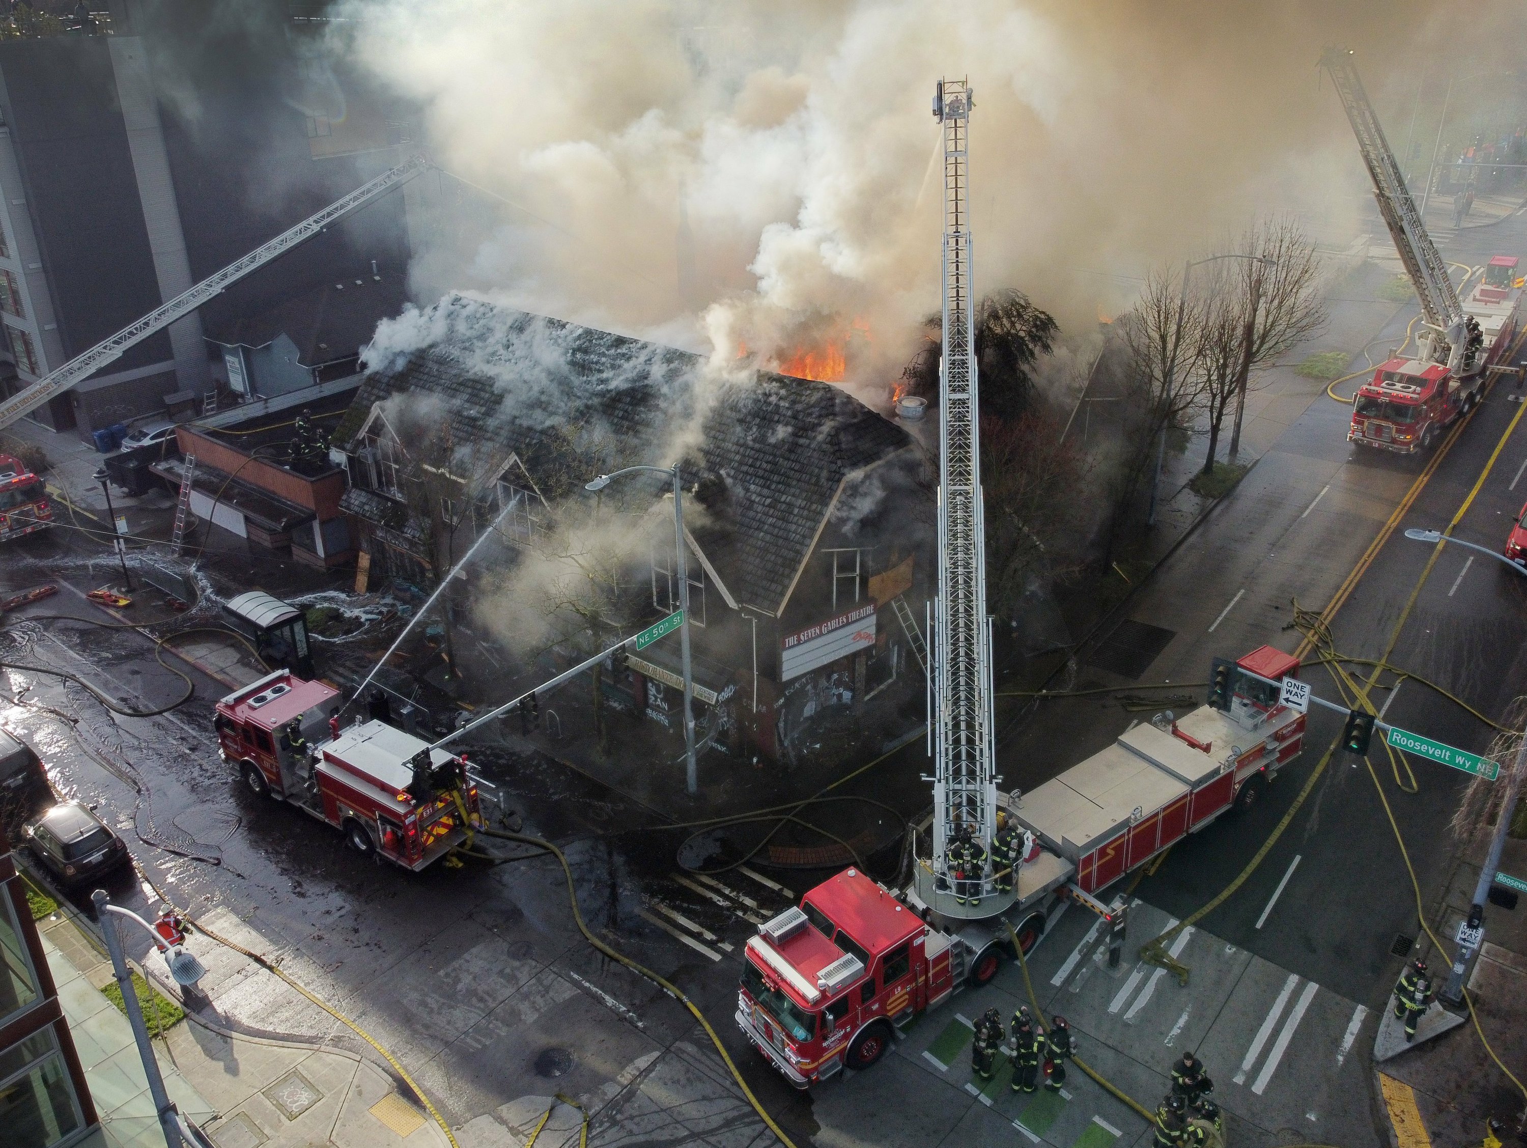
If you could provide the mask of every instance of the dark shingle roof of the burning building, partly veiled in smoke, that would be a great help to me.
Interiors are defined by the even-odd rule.
[[[767,372],[715,383],[699,356],[460,295],[405,322],[425,337],[394,351],[403,331],[383,325],[336,443],[348,443],[377,401],[409,392],[444,401],[454,443],[490,440],[531,476],[573,423],[597,423],[637,460],[658,463],[704,400],[684,467],[696,472],[695,498],[709,513],[690,533],[733,597],[768,612],[783,608],[843,478],[912,443],[829,383]]]

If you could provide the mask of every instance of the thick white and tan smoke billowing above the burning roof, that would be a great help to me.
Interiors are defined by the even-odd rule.
[[[886,379],[939,302],[939,76],[976,92],[977,290],[1077,330],[1254,211],[1348,234],[1364,177],[1316,56],[1358,49],[1397,114],[1417,75],[1391,63],[1458,41],[1434,8],[351,0],[334,35],[423,108],[437,162],[516,205],[415,237],[420,298],[492,290],[718,360],[857,331],[851,376]]]

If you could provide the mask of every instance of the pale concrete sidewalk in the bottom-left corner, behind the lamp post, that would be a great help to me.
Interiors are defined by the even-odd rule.
[[[127,1018],[99,992],[111,966],[69,908],[38,922],[58,998],[111,1148],[163,1136]],[[156,959],[144,972],[174,991]],[[217,1148],[444,1148],[444,1133],[370,1061],[339,1049],[218,1030],[188,1014],[154,1041],[165,1088]]]

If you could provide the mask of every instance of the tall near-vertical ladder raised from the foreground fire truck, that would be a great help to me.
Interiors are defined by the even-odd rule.
[[[944,134],[944,345],[939,357],[939,591],[930,635],[933,832],[931,856],[927,866],[918,866],[918,895],[939,913],[985,917],[1006,908],[1012,895],[993,895],[988,879],[979,907],[956,902],[956,866],[948,856],[960,829],[988,844],[997,827],[971,298],[970,108],[968,81],[939,82],[933,114]]]

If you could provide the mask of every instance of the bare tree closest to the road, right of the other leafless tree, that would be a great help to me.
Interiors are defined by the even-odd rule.
[[[1254,221],[1241,235],[1231,275],[1232,301],[1240,313],[1241,359],[1235,371],[1235,424],[1231,461],[1240,452],[1241,418],[1251,372],[1275,362],[1325,327],[1321,295],[1321,260],[1315,243],[1292,215]],[[1205,470],[1214,466],[1212,452]]]

